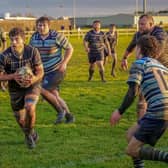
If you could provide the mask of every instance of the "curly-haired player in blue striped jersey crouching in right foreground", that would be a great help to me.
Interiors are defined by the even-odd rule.
[[[143,160],[168,163],[168,152],[152,147],[168,127],[168,68],[157,61],[161,50],[155,37],[142,36],[137,50],[139,54],[127,81],[129,89],[121,106],[112,113],[110,122],[115,125],[121,119],[141,90],[148,106],[145,115],[131,128],[131,136],[128,131],[127,154],[133,158],[135,168],[143,168]]]

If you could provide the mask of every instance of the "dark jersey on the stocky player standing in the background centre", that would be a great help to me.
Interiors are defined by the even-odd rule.
[[[85,35],[84,41],[88,42],[91,53],[100,53],[105,48],[105,42],[107,42],[107,38],[105,33],[102,31],[97,33],[94,30],[90,30]]]

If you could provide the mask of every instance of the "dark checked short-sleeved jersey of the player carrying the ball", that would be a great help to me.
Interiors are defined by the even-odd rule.
[[[0,54],[0,72],[7,74],[15,73],[16,70],[23,66],[29,66],[35,71],[35,66],[41,65],[40,53],[32,46],[25,45],[23,57],[19,59],[13,52],[11,47]],[[8,81],[9,90],[21,89],[15,80]]]

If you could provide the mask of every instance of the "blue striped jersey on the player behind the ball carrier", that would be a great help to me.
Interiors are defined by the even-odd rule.
[[[42,39],[41,35],[35,32],[30,39],[30,44],[38,48],[45,74],[58,69],[58,65],[63,59],[62,49],[72,48],[68,39],[55,30],[50,30],[48,37],[45,39]]]

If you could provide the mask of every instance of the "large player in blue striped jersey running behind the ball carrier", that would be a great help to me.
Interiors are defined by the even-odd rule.
[[[60,97],[59,85],[64,79],[67,65],[73,53],[73,47],[63,34],[50,29],[48,17],[36,20],[37,31],[32,35],[30,44],[38,48],[44,66],[42,96],[56,109],[55,124],[75,121],[66,102]],[[62,55],[62,50],[65,50]]]

